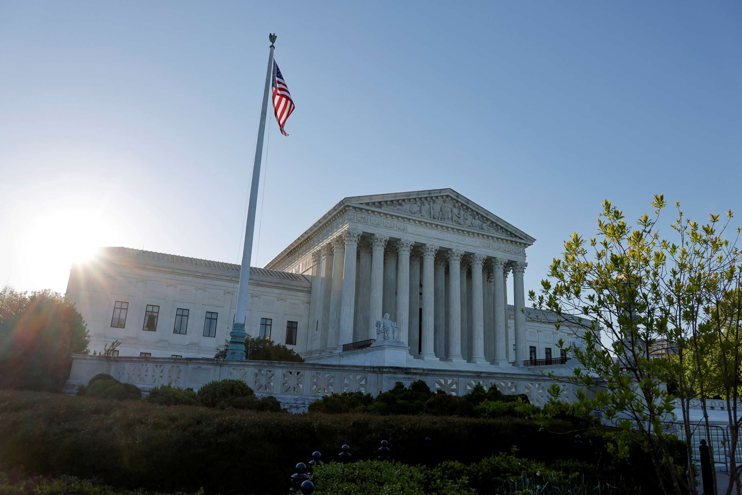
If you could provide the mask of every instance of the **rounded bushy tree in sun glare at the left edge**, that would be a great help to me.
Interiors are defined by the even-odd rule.
[[[62,390],[73,353],[88,353],[82,315],[58,292],[0,291],[0,388]]]

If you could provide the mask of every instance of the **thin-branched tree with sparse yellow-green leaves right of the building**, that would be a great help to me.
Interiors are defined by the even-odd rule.
[[[696,390],[707,396],[706,370],[687,373],[689,361],[700,363],[704,336],[719,328],[712,321],[715,301],[735,280],[738,284],[739,254],[736,239],[723,238],[731,211],[721,226],[713,214],[700,225],[675,203],[677,217],[667,240],[657,227],[666,201],[655,196],[651,206],[654,214],[643,214],[631,228],[623,212],[605,200],[596,237],[585,240],[575,232],[566,240],[540,294],[530,291],[529,298],[534,308],[557,313],[557,328],[569,319],[580,329],[582,344],[571,353],[581,367],[564,377],[591,390],[591,395],[578,392],[580,407],[600,407],[606,419],[640,433],[664,493],[697,493],[693,470],[682,467],[691,463],[692,446],[685,462],[674,459],[664,422],[674,418],[676,405],[687,419]],[[675,357],[657,358],[660,345],[677,350]],[[731,366],[738,370],[738,360]],[[677,401],[669,383],[677,384]],[[611,449],[628,453],[620,441]]]

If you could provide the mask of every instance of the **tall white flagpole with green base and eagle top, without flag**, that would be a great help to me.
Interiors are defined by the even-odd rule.
[[[263,89],[263,107],[260,109],[260,126],[257,128],[257,143],[255,145],[255,163],[252,165],[252,184],[250,185],[250,200],[247,207],[247,225],[245,226],[245,244],[242,249],[242,265],[240,266],[240,287],[237,289],[237,314],[234,315],[232,331],[229,332],[229,347],[227,359],[245,359],[245,314],[247,312],[247,288],[250,281],[250,258],[252,256],[252,237],[255,234],[255,209],[257,208],[257,189],[260,186],[260,160],[263,159],[263,136],[266,134],[266,117],[268,117],[268,94],[273,73],[273,45],[276,35],[270,34],[271,42],[268,55],[268,71],[266,73],[266,87]]]

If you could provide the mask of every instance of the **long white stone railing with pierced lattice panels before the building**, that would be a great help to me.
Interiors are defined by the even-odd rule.
[[[408,385],[421,379],[430,390],[455,396],[469,393],[477,383],[485,389],[498,387],[502,393],[525,393],[532,404],[542,405],[554,380],[518,370],[475,371],[410,367],[378,367],[345,364],[297,363],[287,361],[227,361],[206,358],[108,358],[73,355],[65,391],[88,384],[98,373],[137,385],[143,391],[161,384],[197,390],[212,380],[235,378],[245,381],[259,395],[275,396],[289,410],[306,410],[310,402],[331,393],[362,392],[372,396],[386,392],[397,381]],[[574,398],[574,384],[560,384],[560,399]]]

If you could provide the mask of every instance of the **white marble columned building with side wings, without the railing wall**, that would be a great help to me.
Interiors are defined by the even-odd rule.
[[[534,240],[452,189],[346,197],[250,269],[246,331],[335,364],[371,364],[353,356],[384,338],[396,353],[386,364],[398,366],[556,362],[556,341],[581,330],[557,332],[554,315],[506,304],[510,292],[525,306]],[[117,340],[120,356],[210,358],[229,338],[239,274],[233,263],[109,247],[73,266],[68,297],[92,350]]]

